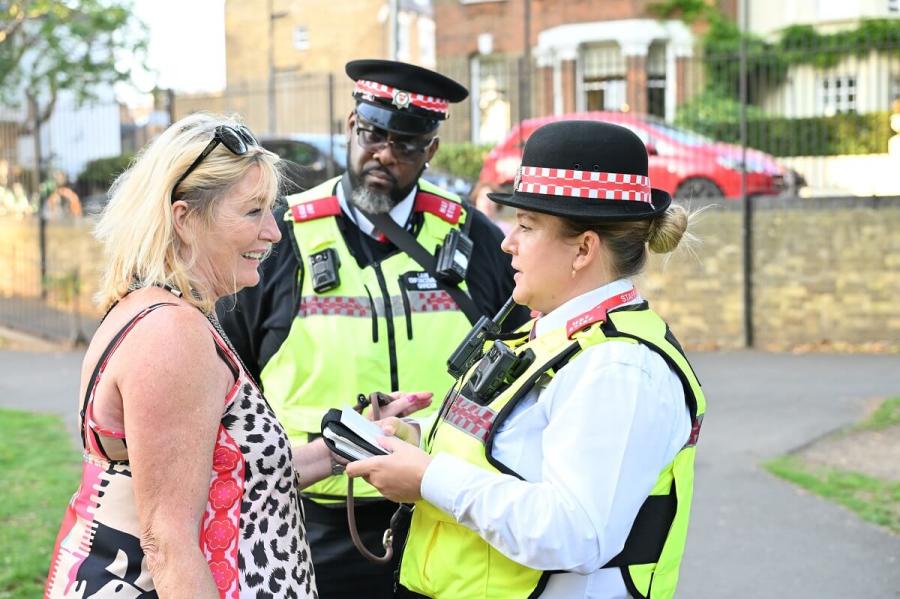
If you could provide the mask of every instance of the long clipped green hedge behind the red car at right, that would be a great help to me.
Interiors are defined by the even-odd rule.
[[[697,133],[717,141],[740,143],[738,121],[686,120],[682,119],[682,124]],[[773,156],[884,154],[892,135],[889,112],[747,121],[747,145]]]

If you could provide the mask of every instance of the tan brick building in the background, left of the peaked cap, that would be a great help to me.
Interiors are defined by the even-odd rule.
[[[434,67],[430,0],[396,0],[396,56]],[[353,106],[344,65],[391,56],[390,0],[226,0],[226,89],[180,95],[175,116],[240,114],[258,134],[340,131]]]

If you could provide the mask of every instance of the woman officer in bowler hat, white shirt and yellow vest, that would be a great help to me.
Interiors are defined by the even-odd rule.
[[[513,298],[542,316],[458,381],[424,451],[388,438],[347,472],[416,502],[400,582],[417,593],[671,597],[705,400],[630,277],[688,214],[650,188],[643,143],[601,122],[536,131],[492,199],[517,208]]]

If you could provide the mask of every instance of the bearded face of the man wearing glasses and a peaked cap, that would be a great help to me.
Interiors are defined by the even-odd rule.
[[[347,168],[354,188],[365,188],[373,194],[381,195],[396,204],[410,192],[438,148],[438,141],[428,145],[421,153],[408,159],[398,159],[391,144],[367,150],[360,144],[358,127],[385,133],[371,123],[362,121],[354,112],[347,119]],[[364,133],[365,135],[365,133]],[[397,142],[413,142],[424,146],[431,135],[404,136],[390,133],[389,137]]]

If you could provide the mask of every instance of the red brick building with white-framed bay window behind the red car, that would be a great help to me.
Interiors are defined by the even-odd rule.
[[[530,67],[522,59],[526,3]],[[655,18],[649,0],[433,4],[438,69],[472,92],[470,125],[454,130],[457,141],[496,141],[524,115],[630,110],[671,119],[685,99],[697,36],[681,21]],[[733,15],[734,2],[720,5]]]

